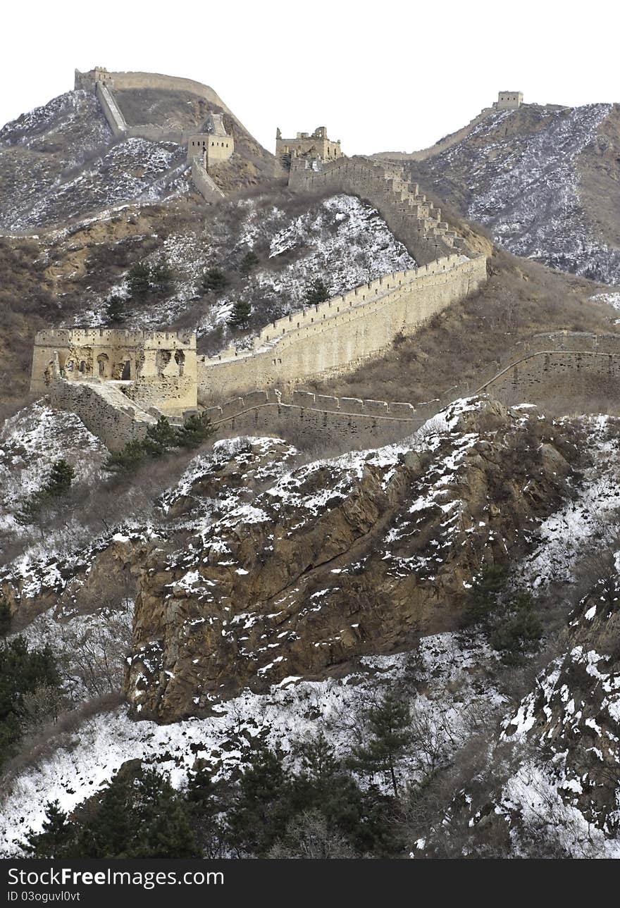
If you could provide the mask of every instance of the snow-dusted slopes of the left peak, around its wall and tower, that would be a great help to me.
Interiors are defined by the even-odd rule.
[[[197,98],[163,94],[162,100],[154,91],[120,93],[129,122],[130,114],[138,122],[141,113],[154,122],[165,114],[177,129],[200,128]],[[202,119],[207,112],[202,104]],[[264,179],[270,155],[239,123],[233,128],[236,163],[226,188],[239,189]],[[0,232],[34,232],[119,203],[157,202],[189,191],[186,149],[143,138],[115,141],[92,92],[61,94],[0,129]]]

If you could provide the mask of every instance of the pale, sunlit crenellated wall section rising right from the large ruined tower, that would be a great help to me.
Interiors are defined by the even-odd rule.
[[[198,400],[225,400],[255,388],[289,391],[310,378],[353,370],[486,280],[484,256],[452,255],[285,316],[264,328],[248,352],[229,347],[199,358]]]

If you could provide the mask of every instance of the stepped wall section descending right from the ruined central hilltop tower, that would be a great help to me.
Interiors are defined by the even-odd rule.
[[[396,165],[362,157],[342,157],[330,163],[293,160],[289,185],[302,192],[359,195],[377,209],[418,264],[467,251],[465,240],[440,220],[441,212],[419,192],[416,183],[402,179]]]

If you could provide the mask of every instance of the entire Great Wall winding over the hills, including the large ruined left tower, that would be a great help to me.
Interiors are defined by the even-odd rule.
[[[94,77],[76,72],[75,79],[76,86],[90,86],[95,91],[113,132],[129,134],[126,129],[139,129],[145,138],[189,141],[190,133],[162,139],[160,127],[127,127],[109,88],[112,79],[121,90],[179,90],[182,84],[184,90],[197,93],[191,80],[157,74],[107,74],[104,70],[95,70]],[[228,110],[212,89],[200,88],[205,100]],[[503,100],[502,94],[506,95]],[[521,97],[500,93],[500,102],[504,106],[495,104],[494,108],[510,109],[521,103]],[[483,115],[487,110],[480,117]],[[211,180],[198,157],[192,157],[191,164],[199,180]],[[321,434],[342,439],[345,447],[363,447],[378,439],[410,435],[463,393],[488,391],[504,399],[536,402],[550,390],[565,396],[575,391],[576,382],[566,382],[570,373],[579,376],[582,395],[590,391],[600,395],[603,388],[610,397],[617,397],[620,339],[613,334],[567,332],[530,339],[505,364],[497,363],[497,370],[481,376],[478,387],[452,389],[442,399],[424,404],[337,399],[300,390],[304,381],[346,373],[379,358],[399,334],[414,335],[452,302],[477,291],[487,280],[487,259],[472,253],[465,239],[441,221],[439,210],[419,192],[417,184],[403,178],[398,163],[345,156],[324,161],[293,155],[288,183],[298,192],[346,192],[369,202],[418,267],[384,275],[290,313],[262,329],[250,349],[238,350],[231,344],[212,357],[196,355],[195,338],[190,341],[165,332],[43,331],[35,341],[32,390],[47,390],[54,406],[73,410],[110,449],[142,438],[162,414],[179,421],[197,407],[205,409],[222,432],[294,427],[297,437],[310,439]],[[210,192],[212,199],[223,194],[214,183],[212,187],[206,183],[203,194],[208,198]],[[102,353],[110,360],[109,374],[102,371]]]

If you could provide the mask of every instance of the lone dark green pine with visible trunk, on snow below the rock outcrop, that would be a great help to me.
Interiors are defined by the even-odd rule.
[[[369,739],[365,745],[355,749],[351,765],[370,775],[377,772],[389,774],[394,796],[398,797],[396,770],[411,743],[408,703],[388,691],[377,706],[370,707],[367,722]]]

